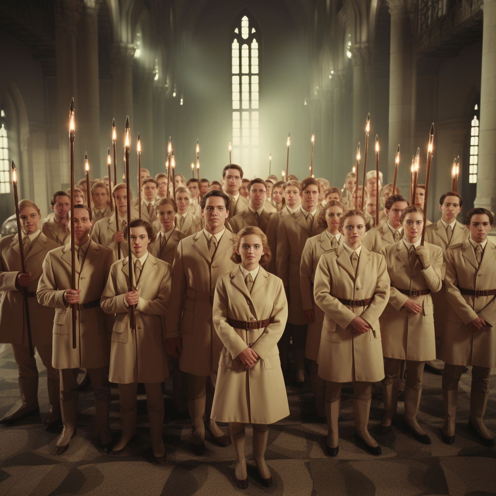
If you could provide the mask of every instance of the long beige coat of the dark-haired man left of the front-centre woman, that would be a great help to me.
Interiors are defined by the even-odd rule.
[[[203,231],[181,240],[176,248],[165,337],[181,335],[183,372],[210,375],[218,369],[223,345],[212,325],[212,303],[217,279],[237,266],[231,260],[234,237],[226,229],[213,259]]]

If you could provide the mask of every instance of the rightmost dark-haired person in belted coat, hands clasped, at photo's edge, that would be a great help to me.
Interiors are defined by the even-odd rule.
[[[484,424],[489,397],[489,376],[496,367],[496,246],[487,236],[494,224],[492,212],[472,208],[465,225],[470,237],[446,250],[446,297],[450,308],[441,337],[444,426],[442,439],[455,441],[458,382],[464,367],[472,366],[469,428],[487,447],[495,445]]]

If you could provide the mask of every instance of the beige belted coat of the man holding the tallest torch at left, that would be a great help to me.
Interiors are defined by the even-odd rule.
[[[79,302],[101,298],[114,252],[91,241],[81,273],[76,272]],[[55,369],[98,369],[109,365],[110,332],[113,315],[100,307],[77,310],[76,349],[72,348],[72,308],[65,307],[62,297],[71,286],[70,244],[49,251],[43,261],[43,275],[38,283],[37,298],[41,305],[55,308],[52,366]]]

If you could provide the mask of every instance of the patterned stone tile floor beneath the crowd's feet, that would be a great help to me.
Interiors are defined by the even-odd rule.
[[[372,400],[370,431],[382,446],[373,457],[356,445],[353,437],[352,400],[343,394],[340,416],[339,454],[324,453],[327,427],[314,414],[310,381],[302,389],[288,386],[291,415],[269,428],[266,460],[273,486],[257,481],[247,429],[249,487],[242,491],[233,483],[232,446],[221,448],[209,439],[206,452],[196,457],[189,449],[191,424],[175,414],[172,383],[165,383],[165,465],[154,463],[143,394],[138,403],[138,434],[117,457],[97,447],[95,411],[91,387],[81,391],[77,435],[69,449],[55,454],[56,433],[43,431],[48,411],[46,370],[39,361],[41,414],[15,427],[0,426],[0,495],[496,495],[496,449],[477,442],[467,428],[470,372],[460,383],[456,441],[451,446],[440,438],[443,408],[440,377],[424,374],[424,395],[419,420],[433,443],[416,442],[402,425],[403,404],[393,429],[376,434],[382,414],[380,393]],[[494,371],[493,371],[494,372]],[[492,376],[493,387],[495,384]],[[345,390],[346,392],[346,390]],[[0,353],[0,417],[18,402],[17,370],[8,351]],[[112,429],[120,435],[119,397],[112,388]],[[486,424],[496,433],[496,393],[493,389]],[[221,426],[228,433],[227,426]]]

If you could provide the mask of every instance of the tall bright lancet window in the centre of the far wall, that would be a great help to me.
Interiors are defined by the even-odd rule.
[[[258,33],[244,15],[232,37],[233,163],[258,166]],[[258,39],[258,41],[257,41]]]

